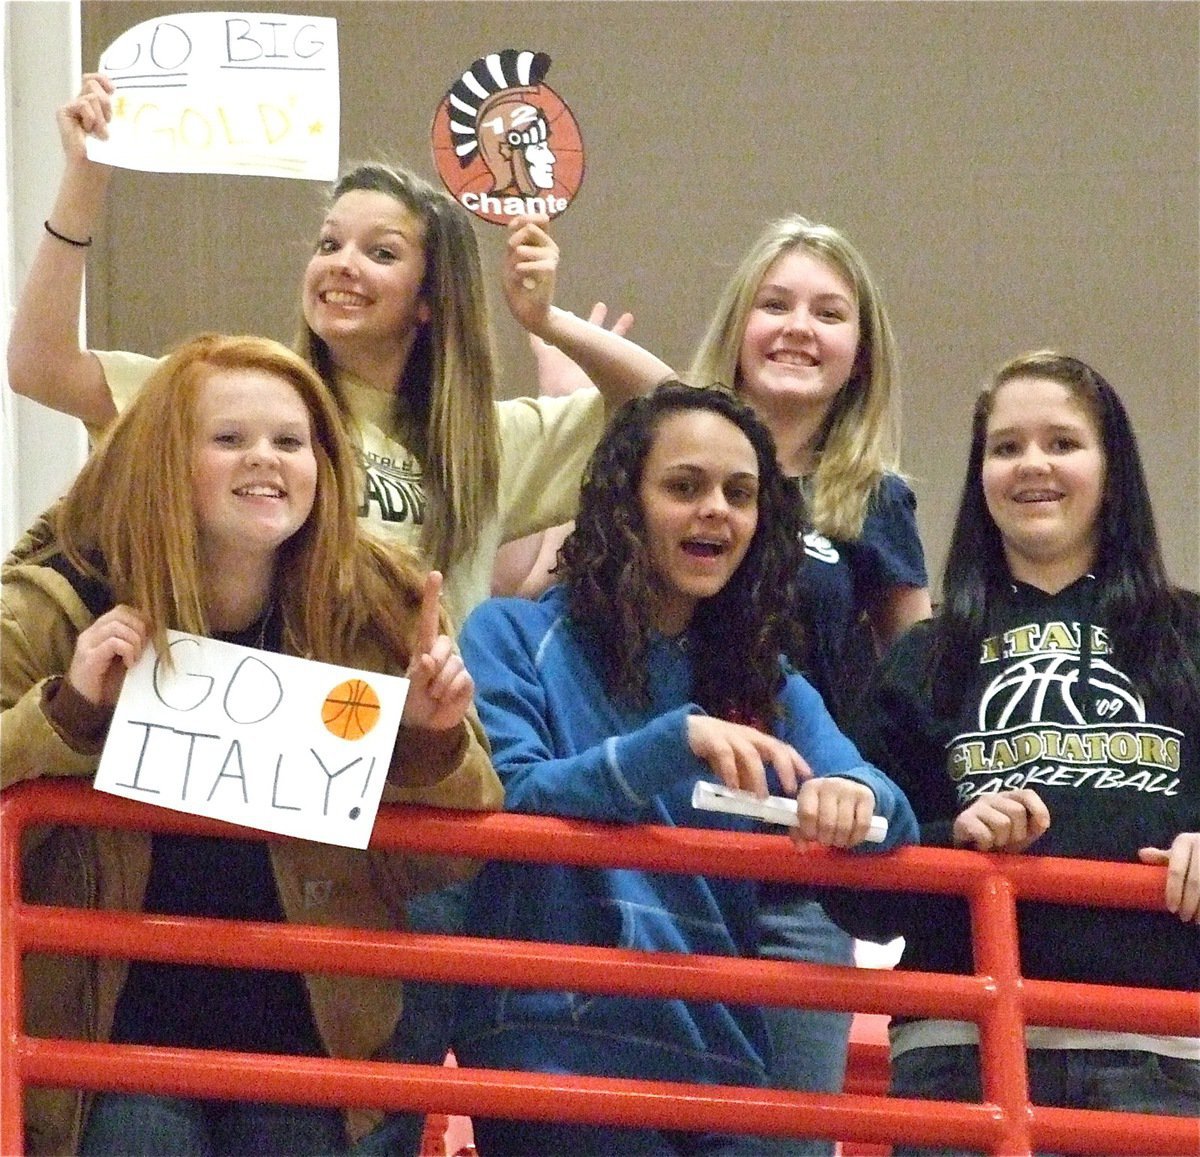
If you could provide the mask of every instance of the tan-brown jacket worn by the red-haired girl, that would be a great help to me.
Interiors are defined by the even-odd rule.
[[[0,787],[42,775],[92,775],[102,744],[60,733],[46,709],[92,621],[79,592],[58,570],[36,563],[4,569],[0,595]],[[364,670],[402,675],[382,653]],[[503,789],[474,713],[450,742],[406,732],[396,744],[384,803],[498,809]],[[304,840],[271,844],[271,865],[287,919],[305,924],[402,929],[416,891],[469,876],[474,862],[401,852],[360,851]],[[24,849],[29,900],[139,911],[150,870],[150,837],[137,832],[54,828],[30,832]],[[29,957],[26,1031],[106,1041],[127,961]],[[313,1020],[330,1056],[370,1057],[388,1042],[401,1008],[400,981],[305,976]],[[85,1111],[80,1093],[31,1090],[26,1152],[72,1153]],[[361,1137],[378,1114],[352,1110]]]

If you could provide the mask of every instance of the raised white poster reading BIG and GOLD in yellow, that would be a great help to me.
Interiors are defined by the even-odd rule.
[[[100,58],[115,86],[103,164],[152,173],[337,176],[337,22],[258,12],[144,20]]]

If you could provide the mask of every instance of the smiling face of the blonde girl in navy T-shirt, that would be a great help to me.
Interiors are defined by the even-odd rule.
[[[797,247],[763,275],[742,336],[738,383],[764,415],[823,419],[858,354],[858,299],[827,260]]]

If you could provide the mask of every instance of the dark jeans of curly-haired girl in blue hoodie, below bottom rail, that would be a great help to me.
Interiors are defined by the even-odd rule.
[[[754,1137],[476,1117],[479,1157],[762,1157]]]

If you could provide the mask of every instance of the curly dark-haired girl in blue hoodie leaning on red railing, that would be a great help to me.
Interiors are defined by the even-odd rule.
[[[698,813],[700,779],[798,802],[797,841],[854,847],[872,814],[883,846],[911,841],[904,795],[834,725],[787,657],[802,511],[754,412],[679,383],[624,407],[588,468],[560,585],[493,599],[463,657],[510,810],[749,831]],[[488,864],[467,927],[516,940],[754,955],[751,881],[629,869]],[[466,1065],[763,1085],[755,1007],[463,990]],[[751,1155],[756,1138],[475,1120],[497,1155]]]

